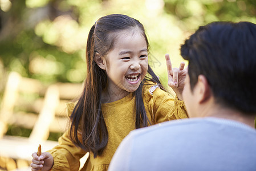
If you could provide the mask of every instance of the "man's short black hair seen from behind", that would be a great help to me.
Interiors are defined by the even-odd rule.
[[[255,115],[256,25],[213,22],[201,26],[181,46],[181,56],[189,61],[187,86],[192,95],[197,84],[206,85],[205,99],[210,94],[222,107]]]

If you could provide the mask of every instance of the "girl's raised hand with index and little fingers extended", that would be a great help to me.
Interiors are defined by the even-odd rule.
[[[168,73],[168,86],[172,87],[178,99],[183,100],[182,91],[188,67],[184,70],[185,63],[181,62],[180,68],[172,68],[172,62],[170,62],[169,54],[165,54],[165,60]]]

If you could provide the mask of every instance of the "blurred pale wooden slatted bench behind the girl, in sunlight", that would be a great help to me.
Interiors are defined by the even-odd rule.
[[[57,141],[47,140],[49,133],[66,131],[65,103],[78,97],[82,88],[82,83],[45,86],[38,80],[11,72],[0,109],[0,156],[31,161],[38,144],[42,145],[42,151],[57,145]],[[29,137],[6,135],[10,125],[32,131]]]

